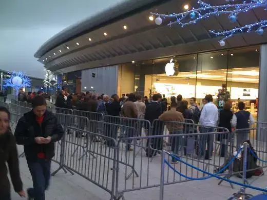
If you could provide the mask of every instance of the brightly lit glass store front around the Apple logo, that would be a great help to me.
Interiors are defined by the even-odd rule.
[[[165,66],[171,58],[175,73],[168,76]],[[236,103],[244,101],[256,117],[259,60],[259,46],[250,46],[123,64],[119,66],[118,93],[161,93],[168,101],[181,94],[185,100],[196,97],[199,105],[206,94],[212,94],[219,108],[231,101],[236,109]]]

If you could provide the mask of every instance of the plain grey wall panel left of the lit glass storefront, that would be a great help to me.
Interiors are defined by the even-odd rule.
[[[95,77],[93,77],[93,74]],[[118,66],[108,66],[82,71],[82,91],[98,94],[116,94],[118,85]]]

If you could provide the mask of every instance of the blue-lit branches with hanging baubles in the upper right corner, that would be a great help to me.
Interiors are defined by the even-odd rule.
[[[203,1],[198,1],[199,8],[193,8],[192,10],[187,10],[182,13],[173,13],[173,14],[159,14],[159,13],[151,13],[156,16],[155,23],[157,25],[161,25],[163,19],[165,18],[174,18],[174,21],[168,23],[168,26],[173,24],[179,24],[182,27],[186,25],[192,25],[200,21],[201,19],[206,19],[211,16],[219,16],[222,14],[227,14],[228,19],[231,23],[237,22],[237,16],[240,13],[248,12],[249,10],[253,10],[255,8],[263,8],[264,11],[267,10],[267,0],[251,0],[250,2],[243,1],[243,3],[236,3],[235,0],[225,0],[225,5],[212,6]],[[267,15],[267,13],[266,13]],[[215,30],[209,30],[210,33],[215,34],[216,36],[222,36],[219,44],[220,46],[225,45],[225,39],[232,37],[237,33],[245,33],[255,31],[259,35],[264,33],[264,29],[267,27],[267,20],[261,19],[255,23],[247,24],[240,27],[235,27],[231,30],[224,30],[221,32],[217,32]]]

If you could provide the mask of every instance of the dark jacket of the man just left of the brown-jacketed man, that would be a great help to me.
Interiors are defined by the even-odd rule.
[[[150,104],[146,105],[145,119],[148,120],[152,125],[154,119],[158,119],[162,113],[161,104],[157,102],[151,102]]]

